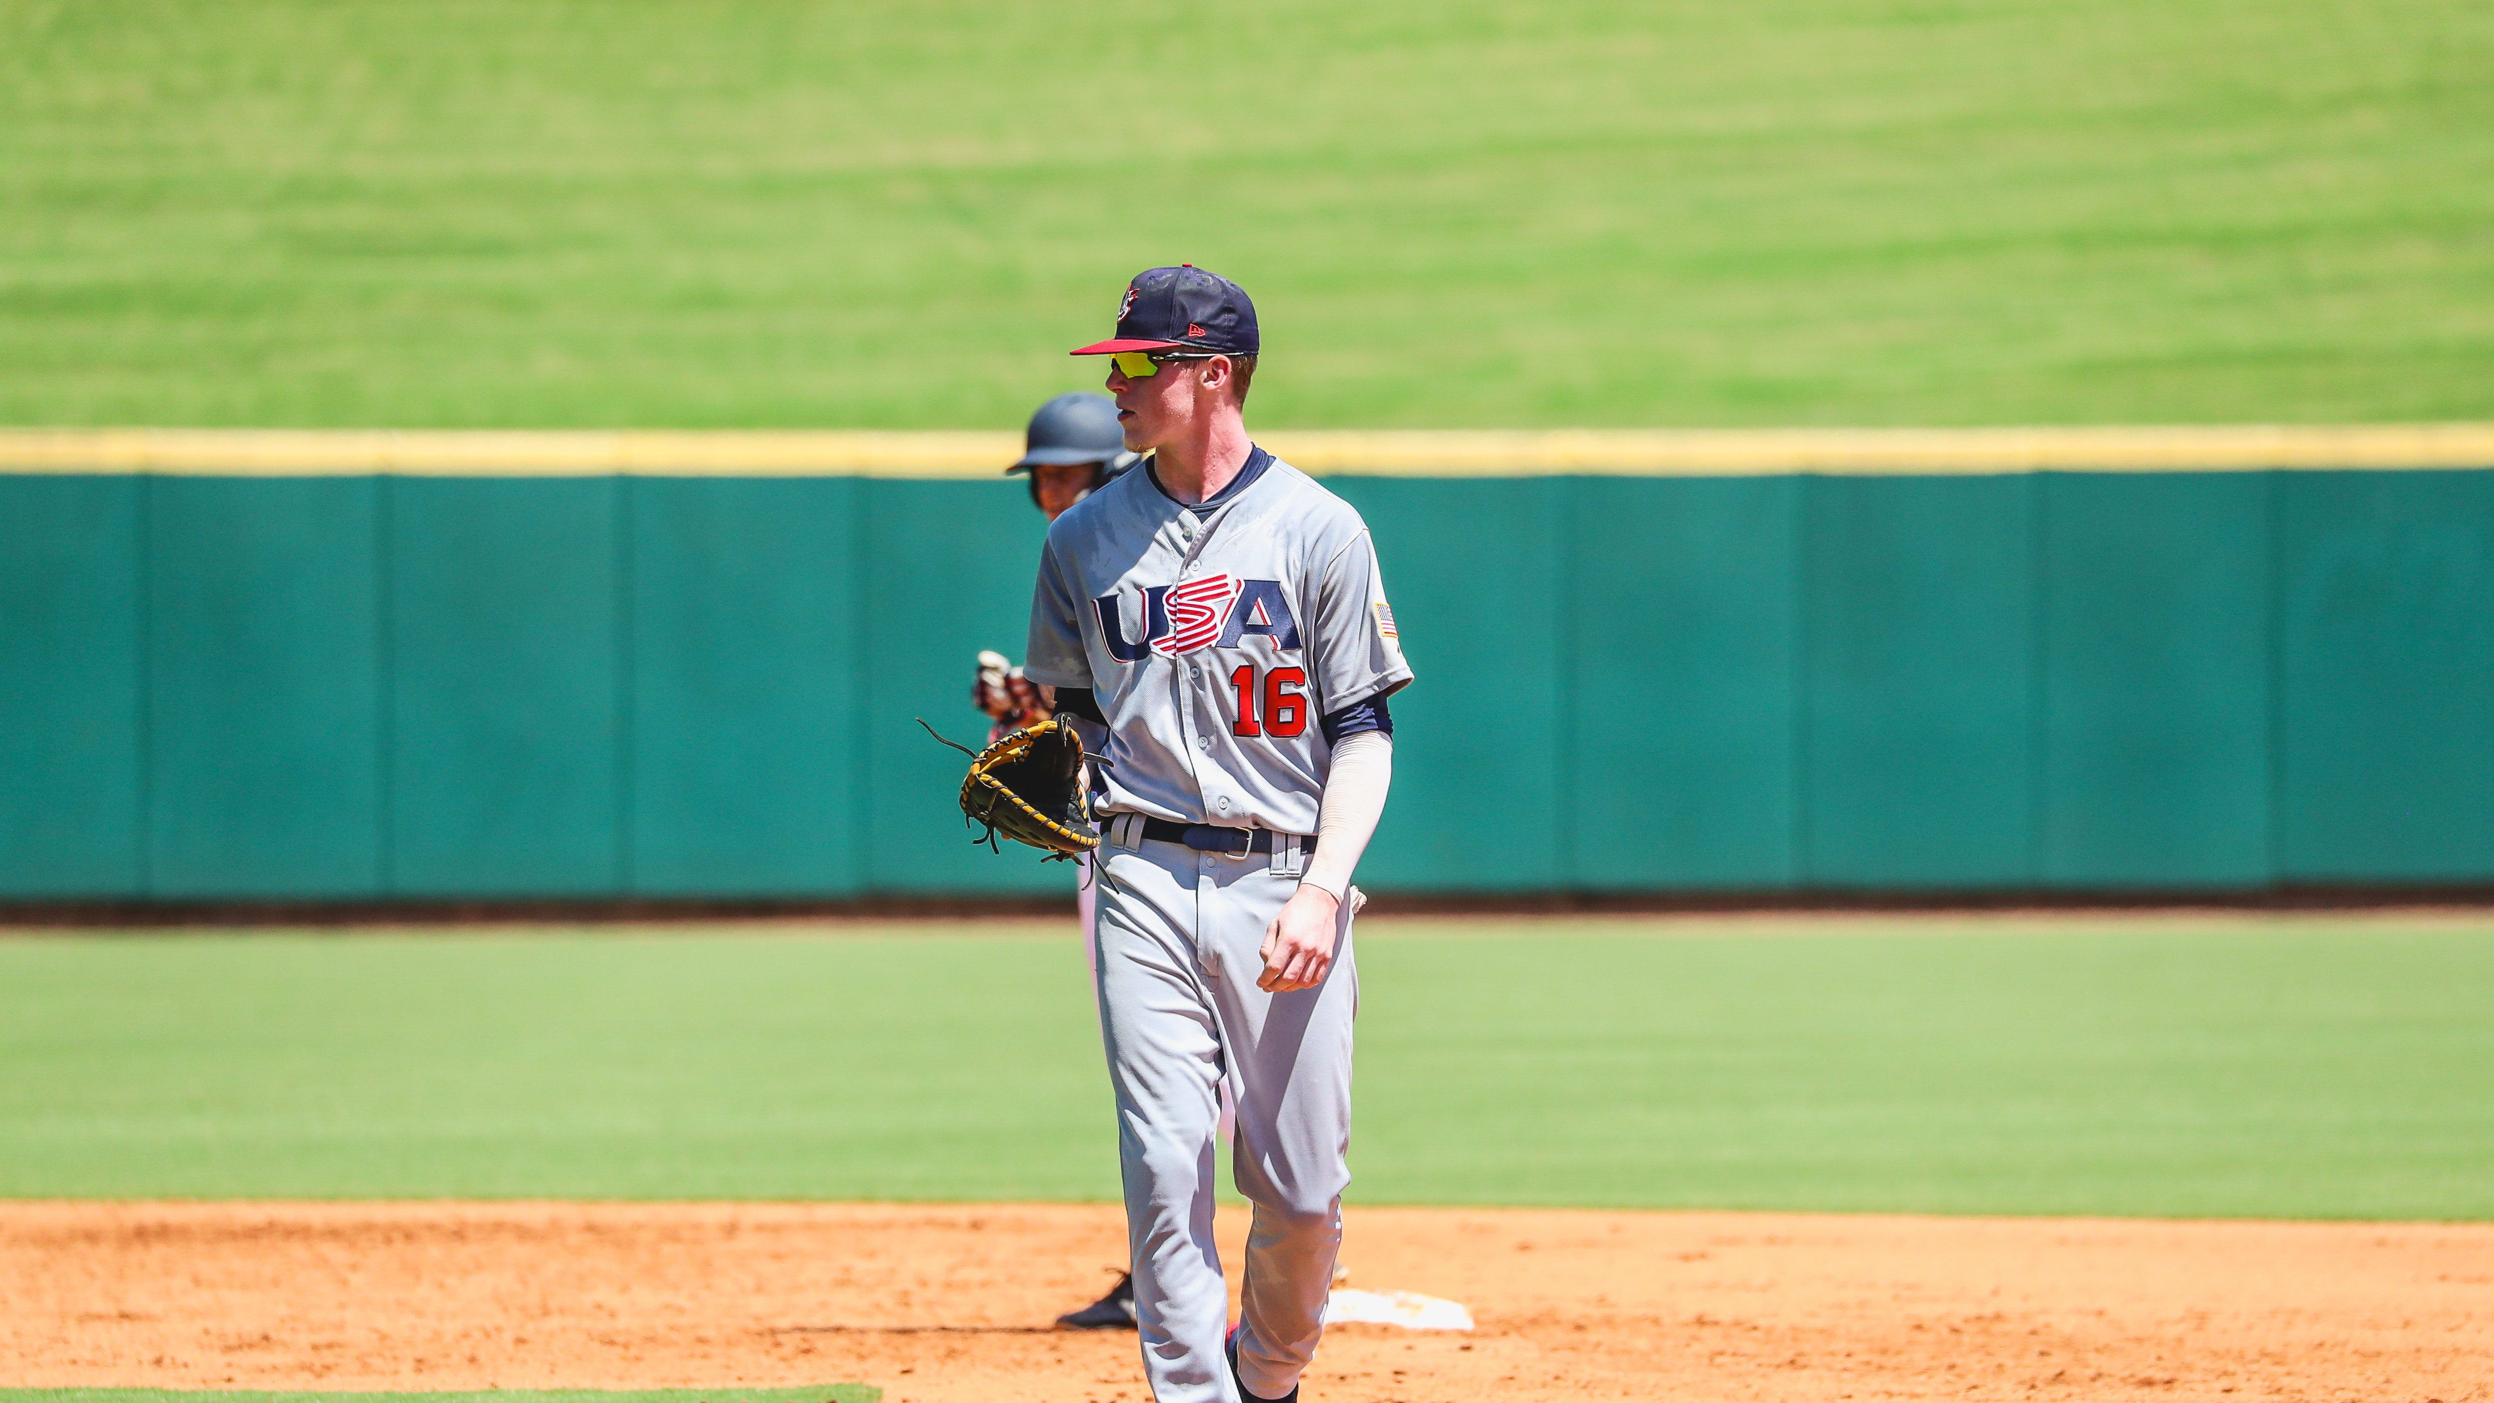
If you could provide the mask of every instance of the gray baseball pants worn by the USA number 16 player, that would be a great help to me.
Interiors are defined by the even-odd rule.
[[[1359,1009],[1354,904],[1342,904],[1324,984],[1264,994],[1254,986],[1259,946],[1299,889],[1297,844],[1232,859],[1157,839],[1107,841],[1100,859],[1100,1029],[1117,1093],[1142,1371],[1160,1403],[1237,1403],[1222,1358],[1230,1296],[1212,1246],[1212,1148],[1227,1086],[1237,1106],[1232,1178],[1254,1206],[1240,1381],[1257,1398],[1279,1398],[1317,1353],[1342,1248]]]

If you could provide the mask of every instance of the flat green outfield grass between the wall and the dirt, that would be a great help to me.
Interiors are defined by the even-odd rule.
[[[1359,961],[1362,1203],[2494,1218],[2489,919]],[[1115,1146],[1070,934],[27,936],[0,1196],[1112,1198]]]

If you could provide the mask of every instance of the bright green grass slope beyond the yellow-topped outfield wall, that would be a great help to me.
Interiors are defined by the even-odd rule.
[[[2494,417],[2457,0],[0,0],[0,422]]]

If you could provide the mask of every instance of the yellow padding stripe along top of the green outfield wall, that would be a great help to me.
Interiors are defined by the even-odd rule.
[[[1928,477],[2494,467],[2494,424],[2080,429],[1279,429],[1362,477]],[[1010,432],[0,429],[0,472],[192,477],[995,477]]]

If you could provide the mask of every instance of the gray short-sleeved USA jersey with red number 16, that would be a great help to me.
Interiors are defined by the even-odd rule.
[[[1349,502],[1262,449],[1207,514],[1127,472],[1047,529],[1025,672],[1107,716],[1102,809],[1317,831],[1317,716],[1412,682]]]

